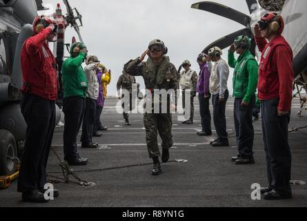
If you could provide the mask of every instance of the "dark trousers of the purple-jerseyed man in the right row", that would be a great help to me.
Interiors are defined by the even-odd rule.
[[[205,98],[204,94],[198,95],[199,99],[199,113],[201,116],[201,128],[205,133],[212,133],[211,131],[211,113],[209,108],[210,98]]]

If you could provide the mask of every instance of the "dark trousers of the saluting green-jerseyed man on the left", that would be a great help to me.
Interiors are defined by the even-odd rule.
[[[75,160],[77,158],[77,135],[82,124],[85,105],[83,97],[68,97],[63,101],[65,160]]]

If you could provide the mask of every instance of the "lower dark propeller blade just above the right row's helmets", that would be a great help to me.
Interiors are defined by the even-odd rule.
[[[203,52],[208,54],[208,51],[210,50],[210,48],[213,48],[215,46],[217,46],[217,47],[221,48],[221,50],[223,50],[223,49],[227,48],[228,46],[231,46],[233,44],[233,41],[235,41],[235,39],[240,35],[251,36],[252,34],[250,33],[250,30],[248,28],[238,30],[237,32],[233,32],[230,35],[226,35],[225,37],[221,37],[217,41],[212,42],[212,44],[208,45],[203,50]]]

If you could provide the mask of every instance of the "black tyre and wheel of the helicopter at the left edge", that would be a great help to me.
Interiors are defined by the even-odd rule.
[[[0,130],[0,175],[12,175],[17,167],[17,144],[10,131]]]

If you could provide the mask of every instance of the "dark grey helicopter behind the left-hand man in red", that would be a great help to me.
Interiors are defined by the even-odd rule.
[[[79,40],[83,42],[79,31],[82,16],[76,8],[70,6],[68,0],[63,0],[63,3],[67,8],[67,15],[62,14],[60,4],[57,4],[55,13],[50,15],[59,23],[57,41],[53,48],[59,67],[60,86],[64,48],[70,46],[64,43],[66,28],[69,25],[75,28]],[[21,48],[23,42],[33,35],[34,18],[39,11],[47,9],[43,6],[43,0],[0,0],[0,176],[12,175],[17,171],[27,128],[20,110]],[[59,96],[61,91],[62,87]],[[60,119],[61,110],[57,106],[57,123]]]

